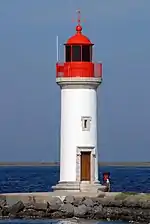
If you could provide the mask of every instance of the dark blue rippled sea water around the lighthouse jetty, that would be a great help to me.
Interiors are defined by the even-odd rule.
[[[101,167],[102,173],[110,172],[111,191],[150,192],[150,167]],[[0,167],[0,193],[10,192],[46,192],[59,180],[59,167]],[[104,221],[78,220],[0,220],[0,224],[107,224]],[[110,222],[109,224],[125,224]]]

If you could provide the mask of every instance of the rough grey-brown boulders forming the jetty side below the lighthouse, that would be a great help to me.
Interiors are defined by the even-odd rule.
[[[49,201],[36,202],[35,198],[24,203],[10,205],[0,196],[0,218],[84,218],[97,220],[123,220],[149,223],[150,195],[120,193],[99,197],[66,196],[64,200],[53,197]]]

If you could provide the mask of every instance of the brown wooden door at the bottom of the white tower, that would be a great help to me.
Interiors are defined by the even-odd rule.
[[[91,152],[81,152],[81,181],[91,180]]]

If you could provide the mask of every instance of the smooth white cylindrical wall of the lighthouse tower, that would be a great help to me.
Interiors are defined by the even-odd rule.
[[[91,116],[90,131],[82,131],[82,116]],[[76,181],[77,146],[94,146],[97,151],[97,93],[95,89],[61,90],[60,146],[60,181]]]

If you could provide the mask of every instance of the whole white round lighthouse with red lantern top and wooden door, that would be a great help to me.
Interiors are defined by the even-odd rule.
[[[64,44],[64,62],[56,63],[61,90],[60,180],[54,191],[98,192],[97,88],[102,63],[93,62],[93,46],[83,35],[80,11],[75,34]]]

